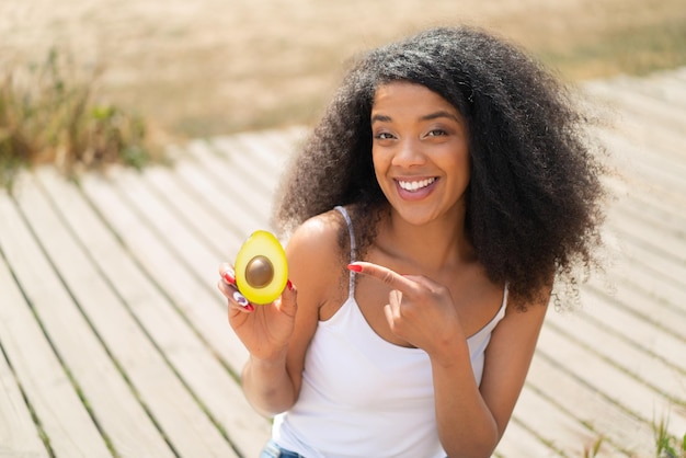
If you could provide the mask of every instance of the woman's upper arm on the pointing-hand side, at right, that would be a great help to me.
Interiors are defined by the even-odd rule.
[[[544,300],[519,310],[510,302],[503,320],[495,327],[485,351],[483,377],[479,390],[500,432],[505,431],[526,379],[544,318],[549,290]]]

